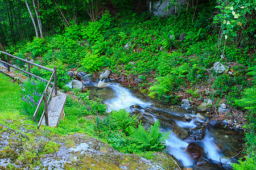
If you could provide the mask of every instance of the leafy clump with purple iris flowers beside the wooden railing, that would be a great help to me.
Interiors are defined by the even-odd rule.
[[[46,88],[46,82],[43,80],[35,80],[34,78],[28,79],[23,84],[22,94],[22,107],[28,116],[32,117],[39,104],[41,97],[43,96],[44,89]],[[40,120],[43,113],[43,104],[41,105],[36,120]]]

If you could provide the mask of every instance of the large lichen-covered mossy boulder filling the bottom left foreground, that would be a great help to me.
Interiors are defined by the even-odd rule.
[[[85,134],[19,129],[0,125],[0,169],[178,169],[170,156],[123,154]]]

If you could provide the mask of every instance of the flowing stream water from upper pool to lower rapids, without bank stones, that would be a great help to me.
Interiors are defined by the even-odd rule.
[[[108,105],[108,112],[126,109],[131,114],[139,114],[144,128],[149,128],[156,120],[160,120],[161,131],[171,130],[171,135],[166,141],[167,154],[173,155],[181,167],[205,169],[205,167],[197,167],[197,159],[189,156],[187,151],[189,143],[196,143],[197,146],[203,148],[203,157],[207,163],[206,169],[222,169],[220,156],[234,156],[242,150],[242,137],[238,135],[238,132],[210,128],[206,124],[207,120],[201,120],[182,108],[177,106],[170,108],[170,106],[156,103],[115,83],[110,83],[104,88],[97,88],[97,84],[92,83],[88,88],[90,98],[102,99]],[[186,121],[184,114],[191,116],[192,120]],[[195,140],[197,135],[201,134],[192,134],[194,138],[191,138],[189,131],[197,127],[201,127],[199,129],[204,135]]]

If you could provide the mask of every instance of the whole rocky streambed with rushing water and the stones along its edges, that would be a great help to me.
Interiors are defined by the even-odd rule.
[[[173,155],[180,167],[187,169],[232,169],[243,150],[240,131],[242,123],[220,120],[210,112],[212,101],[205,99],[199,106],[183,100],[180,106],[168,106],[113,83],[109,71],[100,75],[97,83],[91,78],[73,80],[70,87],[90,90],[90,98],[98,97],[108,105],[108,112],[126,109],[138,114],[144,128],[160,120],[162,131],[172,131],[167,139],[167,153]],[[88,75],[89,76],[89,75]],[[76,85],[80,84],[80,85]],[[228,112],[221,104],[219,113]]]

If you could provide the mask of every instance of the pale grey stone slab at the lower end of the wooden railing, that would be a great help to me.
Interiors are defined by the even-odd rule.
[[[64,117],[64,105],[67,100],[67,95],[58,91],[56,96],[52,96],[51,101],[48,105],[48,115],[49,115],[49,126],[57,127],[59,125],[60,119]],[[42,120],[41,125],[46,125],[45,118]]]

